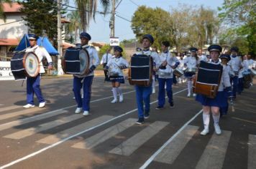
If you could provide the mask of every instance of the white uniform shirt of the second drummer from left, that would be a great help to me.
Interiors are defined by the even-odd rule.
[[[89,68],[91,68],[91,66],[95,66],[97,67],[99,65],[99,57],[98,57],[98,52],[96,51],[96,49],[94,47],[89,46],[88,44],[83,45],[82,46],[83,49],[86,49],[88,51],[89,57],[90,57],[90,66]],[[74,74],[74,76],[76,77],[88,77],[88,76],[93,76],[94,75],[94,71],[87,74],[87,75],[78,75],[78,74]]]

